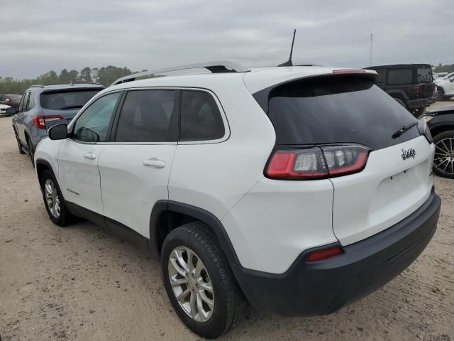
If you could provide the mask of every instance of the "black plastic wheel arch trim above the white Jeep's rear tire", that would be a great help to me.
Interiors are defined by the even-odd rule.
[[[158,200],[150,215],[150,252],[160,256],[162,242],[167,234],[184,223],[199,220],[214,232],[219,245],[232,268],[239,266],[240,261],[226,229],[211,212],[200,207],[172,200]]]

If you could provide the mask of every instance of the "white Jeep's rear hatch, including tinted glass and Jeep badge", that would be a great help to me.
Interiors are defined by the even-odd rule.
[[[341,244],[391,227],[430,195],[433,145],[419,133],[417,120],[373,80],[330,75],[287,82],[270,91],[264,109],[275,126],[276,148],[359,144],[369,149],[362,171],[330,177],[333,232]],[[402,126],[409,129],[396,136]]]

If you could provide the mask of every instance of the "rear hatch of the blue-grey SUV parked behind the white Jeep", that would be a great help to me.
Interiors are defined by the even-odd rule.
[[[76,116],[79,109],[104,87],[88,87],[68,90],[45,90],[40,94],[40,104],[46,126],[67,123]]]

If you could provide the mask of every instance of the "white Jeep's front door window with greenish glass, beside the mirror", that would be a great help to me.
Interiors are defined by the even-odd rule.
[[[90,104],[77,118],[72,138],[84,142],[105,142],[120,96],[121,92],[106,94]]]

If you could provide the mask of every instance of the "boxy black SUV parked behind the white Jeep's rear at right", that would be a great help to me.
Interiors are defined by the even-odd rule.
[[[377,71],[377,85],[416,117],[433,102],[435,84],[431,65],[396,64],[365,69]]]

